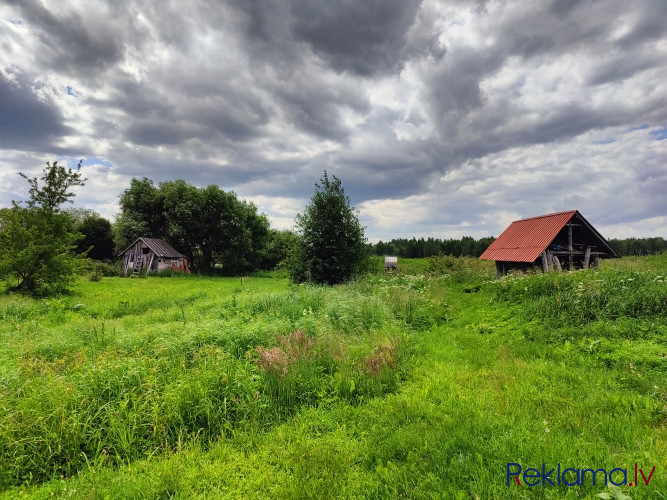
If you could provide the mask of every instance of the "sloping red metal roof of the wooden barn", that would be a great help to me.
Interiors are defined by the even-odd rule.
[[[569,210],[514,221],[479,258],[534,262],[576,213]]]

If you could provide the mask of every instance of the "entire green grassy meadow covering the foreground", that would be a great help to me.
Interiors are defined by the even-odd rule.
[[[401,266],[1,296],[0,497],[667,499],[667,255]]]

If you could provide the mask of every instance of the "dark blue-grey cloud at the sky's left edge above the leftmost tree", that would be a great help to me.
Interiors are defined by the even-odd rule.
[[[10,82],[0,75],[0,148],[60,150],[57,140],[74,130],[65,125],[58,108],[23,80]]]

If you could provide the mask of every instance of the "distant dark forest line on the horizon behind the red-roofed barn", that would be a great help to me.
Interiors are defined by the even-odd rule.
[[[389,242],[378,241],[371,245],[375,255],[396,255],[397,257],[415,259],[434,257],[436,255],[452,255],[454,257],[479,257],[495,240],[487,236],[476,240],[471,236],[441,240],[438,238],[399,238]],[[667,240],[655,238],[612,238],[609,244],[622,256],[653,255],[667,251]]]

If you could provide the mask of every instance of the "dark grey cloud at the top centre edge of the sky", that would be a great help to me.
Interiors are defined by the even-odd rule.
[[[260,57],[294,63],[304,46],[333,70],[361,77],[397,73],[414,57],[444,55],[422,0],[234,1],[244,36]],[[411,31],[415,24],[424,29]],[[290,66],[291,66],[290,64]],[[281,68],[284,69],[284,68]]]

